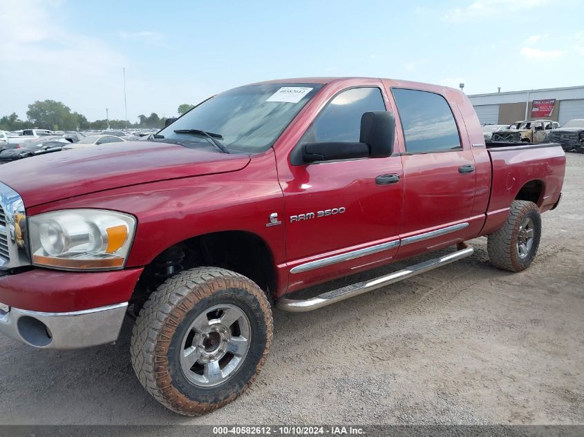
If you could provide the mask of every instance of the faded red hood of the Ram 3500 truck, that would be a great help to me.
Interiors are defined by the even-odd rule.
[[[248,155],[161,142],[104,144],[21,159],[0,166],[0,182],[27,208],[77,195],[165,179],[228,173],[245,168]]]

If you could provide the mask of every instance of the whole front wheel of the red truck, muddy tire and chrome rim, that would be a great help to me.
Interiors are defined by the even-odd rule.
[[[198,416],[252,384],[271,342],[270,304],[252,280],[196,268],[164,282],[144,304],[132,333],[132,365],[164,407]]]

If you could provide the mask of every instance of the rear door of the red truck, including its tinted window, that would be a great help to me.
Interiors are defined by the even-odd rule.
[[[482,216],[471,217],[475,159],[458,107],[425,90],[392,88],[392,95],[405,143],[403,258],[476,235]]]

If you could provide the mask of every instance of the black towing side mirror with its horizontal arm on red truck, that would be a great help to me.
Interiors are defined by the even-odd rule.
[[[392,113],[385,110],[364,113],[358,143],[305,143],[302,145],[302,160],[308,164],[335,159],[388,157],[393,153],[394,139],[395,117]]]

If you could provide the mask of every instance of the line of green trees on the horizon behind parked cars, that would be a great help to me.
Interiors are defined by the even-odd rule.
[[[182,104],[178,107],[178,114],[182,115],[193,106]],[[137,123],[130,123],[126,120],[109,120],[109,127],[112,129],[123,128],[163,128],[165,117],[159,117],[157,113],[149,116],[138,115]],[[0,118],[0,130],[21,130],[21,129],[49,129],[49,130],[86,130],[86,129],[106,129],[108,120],[101,119],[89,122],[88,119],[71,109],[61,101],[45,100],[35,101],[28,105],[26,120],[21,120],[17,113],[5,115]]]

